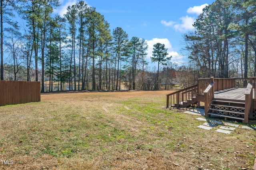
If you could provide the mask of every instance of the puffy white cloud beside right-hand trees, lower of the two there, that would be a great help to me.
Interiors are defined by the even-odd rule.
[[[181,17],[180,20],[182,20],[182,23],[176,23],[173,26],[174,29],[176,29],[177,31],[185,32],[185,31],[194,29],[193,24],[196,21],[194,18],[185,16],[185,17]]]

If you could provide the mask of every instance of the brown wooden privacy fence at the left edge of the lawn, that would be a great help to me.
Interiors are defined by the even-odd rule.
[[[0,80],[0,106],[40,102],[40,82]]]

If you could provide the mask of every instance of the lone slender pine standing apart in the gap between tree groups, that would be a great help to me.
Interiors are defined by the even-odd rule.
[[[167,53],[167,48],[164,47],[164,44],[161,43],[156,43],[153,46],[153,56],[150,57],[152,62],[157,62],[158,67],[157,67],[157,74],[156,74],[156,81],[155,81],[155,86],[154,86],[154,90],[158,90],[159,89],[159,68],[161,64],[165,64],[166,62],[166,57],[168,55]]]

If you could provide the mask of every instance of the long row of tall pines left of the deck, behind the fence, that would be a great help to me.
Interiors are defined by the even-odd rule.
[[[69,90],[121,90],[121,86],[158,90],[175,75],[163,44],[158,43],[153,51],[152,61],[158,67],[149,68],[146,40],[129,40],[120,27],[111,31],[104,16],[84,1],[68,6],[63,18],[52,16],[60,5],[58,0],[4,3],[3,14],[10,21],[1,23],[6,31],[4,53],[10,60],[5,63],[11,64],[1,61],[1,80],[41,81],[41,92],[53,91],[56,83],[58,90],[64,90],[64,84]],[[11,10],[21,16],[26,28],[10,20]]]

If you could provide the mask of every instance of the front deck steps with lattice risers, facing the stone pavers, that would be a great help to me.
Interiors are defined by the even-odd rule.
[[[224,117],[226,120],[238,119],[244,121],[245,102],[243,100],[224,100],[213,98],[208,114],[214,117]]]

